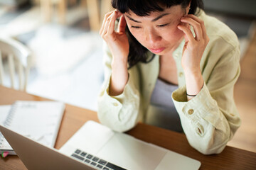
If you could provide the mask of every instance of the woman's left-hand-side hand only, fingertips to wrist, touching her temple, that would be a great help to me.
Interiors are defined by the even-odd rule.
[[[120,17],[121,16],[121,17]],[[114,30],[116,19],[120,17],[117,31]],[[107,42],[113,55],[113,60],[121,59],[127,61],[129,54],[129,41],[125,33],[126,21],[122,13],[117,10],[105,15],[100,28],[100,35]]]

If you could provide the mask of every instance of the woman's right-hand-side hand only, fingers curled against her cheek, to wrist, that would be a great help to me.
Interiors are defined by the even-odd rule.
[[[185,45],[181,60],[182,67],[184,72],[200,72],[201,57],[209,42],[206,27],[201,19],[191,14],[182,17],[181,22],[186,23],[178,26],[178,29],[185,34]],[[188,24],[193,26],[195,37]]]

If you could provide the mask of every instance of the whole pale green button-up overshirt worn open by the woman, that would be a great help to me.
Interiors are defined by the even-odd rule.
[[[240,47],[237,36],[224,23],[207,16],[203,11],[198,17],[204,21],[210,38],[200,64],[205,84],[196,97],[187,101],[186,82],[181,67],[183,41],[173,53],[178,89],[170,97],[181,118],[189,144],[203,154],[214,154],[223,151],[241,123],[233,98],[234,84],[240,74]],[[129,79],[123,93],[110,96],[108,89],[112,55],[107,47],[105,50],[105,81],[98,98],[97,115],[102,124],[124,132],[146,118],[151,94],[159,76],[159,56],[156,55],[147,64],[139,62],[129,69]]]

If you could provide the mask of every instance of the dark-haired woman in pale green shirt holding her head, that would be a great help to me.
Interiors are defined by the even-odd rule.
[[[142,121],[183,131],[203,154],[223,151],[240,127],[233,98],[240,50],[235,33],[202,4],[112,0],[116,10],[100,29],[109,49],[101,123],[123,132]]]

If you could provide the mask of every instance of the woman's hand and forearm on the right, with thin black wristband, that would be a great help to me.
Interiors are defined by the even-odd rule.
[[[181,22],[185,23],[178,26],[178,29],[182,30],[185,34],[185,45],[183,47],[181,64],[185,74],[186,93],[189,101],[201,91],[203,86],[200,62],[209,38],[206,34],[206,27],[203,21],[198,17],[187,15],[181,18]],[[196,34],[195,37],[189,25],[193,26]]]

